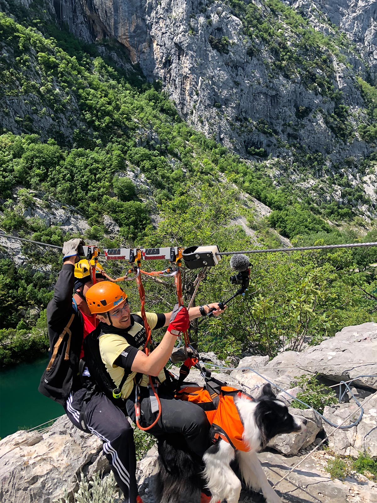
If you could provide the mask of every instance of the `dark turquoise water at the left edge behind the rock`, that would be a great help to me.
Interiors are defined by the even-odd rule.
[[[20,363],[0,373],[0,437],[28,430],[64,414],[61,405],[38,391],[49,356]]]

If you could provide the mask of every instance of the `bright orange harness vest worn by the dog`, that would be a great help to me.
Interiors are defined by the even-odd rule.
[[[244,391],[226,386],[213,378],[206,379],[205,387],[184,386],[175,394],[176,398],[194,402],[205,411],[212,426],[211,438],[214,444],[222,439],[233,449],[247,452],[250,447],[242,439],[244,426],[235,404],[237,396],[254,400]]]

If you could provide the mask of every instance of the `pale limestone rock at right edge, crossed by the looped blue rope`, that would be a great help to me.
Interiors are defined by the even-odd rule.
[[[329,447],[337,454],[353,457],[366,450],[370,456],[377,459],[377,393],[370,399],[361,400],[360,403],[364,408],[361,422],[349,430],[337,430],[329,438]],[[352,411],[354,414],[345,423],[348,425],[355,421],[360,413],[360,409],[353,401],[335,407],[326,406],[323,415],[335,425],[340,425]],[[327,435],[334,430],[327,423],[324,423],[323,427]]]

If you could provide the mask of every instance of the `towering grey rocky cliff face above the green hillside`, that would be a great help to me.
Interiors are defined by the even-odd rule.
[[[255,26],[247,32],[244,17],[235,15],[231,2],[80,0],[73,8],[56,0],[53,5],[59,19],[85,40],[110,36],[121,42],[148,79],[163,82],[180,115],[196,129],[246,159],[277,157],[279,167],[270,170],[277,185],[286,176],[311,190],[316,180],[326,181],[328,172],[334,173],[334,165],[351,185],[365,182],[358,166],[349,169],[345,160],[358,162],[375,147],[358,131],[370,119],[356,74],[375,79],[376,2],[285,2],[316,32],[335,41],[336,49],[321,40],[303,49],[290,14],[269,4],[255,0],[253,15],[262,28],[273,24],[273,41]],[[284,32],[286,45],[279,32]],[[285,65],[292,62],[288,56],[281,59],[291,49],[304,60],[313,59],[312,67],[293,62],[292,71],[286,72]],[[326,89],[320,84],[324,80]],[[308,154],[309,170],[303,177],[294,162]],[[320,155],[318,167],[313,155]],[[367,183],[374,201],[373,174]],[[335,199],[342,200],[336,191]]]

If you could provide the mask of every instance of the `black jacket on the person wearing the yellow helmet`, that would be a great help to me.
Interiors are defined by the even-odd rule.
[[[78,372],[83,338],[82,315],[72,304],[74,266],[64,264],[47,306],[47,326],[52,358],[38,390],[62,405],[71,389],[80,387]],[[70,324],[69,324],[70,322]],[[69,324],[69,328],[64,330]],[[59,340],[60,338],[60,340]]]

